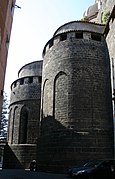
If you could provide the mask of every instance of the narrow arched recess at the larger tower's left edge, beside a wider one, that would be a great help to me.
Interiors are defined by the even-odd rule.
[[[49,80],[46,79],[43,84],[43,95],[42,95],[42,117],[48,116],[49,100],[50,100],[50,91],[48,88]]]

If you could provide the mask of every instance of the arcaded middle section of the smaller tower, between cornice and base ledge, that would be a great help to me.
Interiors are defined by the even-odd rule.
[[[27,128],[20,130],[22,109],[27,111]],[[35,112],[36,111],[36,112]],[[36,144],[38,138],[40,120],[40,100],[20,101],[10,106],[10,119],[8,125],[8,142],[10,144],[20,143],[20,136],[25,133],[27,144]]]

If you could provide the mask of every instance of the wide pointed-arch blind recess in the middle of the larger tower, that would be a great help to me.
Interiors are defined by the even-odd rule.
[[[53,118],[61,123],[68,119],[68,77],[60,71],[54,79]]]

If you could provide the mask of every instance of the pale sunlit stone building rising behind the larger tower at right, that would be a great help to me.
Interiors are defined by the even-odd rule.
[[[105,24],[104,36],[109,50],[111,66],[115,150],[115,0],[96,0],[95,4],[84,13],[84,18],[90,22]]]

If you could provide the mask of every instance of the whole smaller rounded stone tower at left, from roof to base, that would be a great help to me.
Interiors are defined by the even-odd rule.
[[[29,168],[36,160],[40,120],[42,61],[24,65],[11,85],[8,147],[4,168]]]

